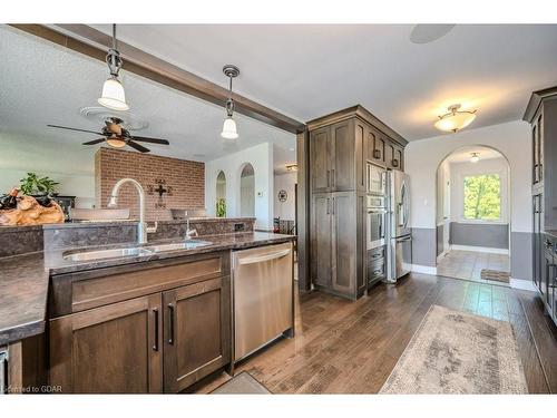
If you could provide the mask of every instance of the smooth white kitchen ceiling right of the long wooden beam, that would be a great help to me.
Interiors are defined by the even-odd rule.
[[[107,25],[94,25],[105,32]],[[438,135],[453,103],[473,127],[519,119],[532,90],[557,84],[557,25],[457,25],[412,43],[411,25],[123,25],[118,37],[299,120],[361,104],[407,139]]]

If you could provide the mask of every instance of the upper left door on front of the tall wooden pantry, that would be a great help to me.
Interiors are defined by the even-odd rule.
[[[310,169],[312,193],[331,189],[331,127],[325,126],[310,133]]]

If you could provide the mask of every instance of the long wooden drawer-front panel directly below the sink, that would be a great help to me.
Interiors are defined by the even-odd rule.
[[[59,317],[219,278],[229,274],[227,260],[204,254],[53,276],[50,309]]]

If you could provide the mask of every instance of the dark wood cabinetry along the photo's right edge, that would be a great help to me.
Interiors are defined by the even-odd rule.
[[[557,323],[557,87],[532,93],[524,119],[531,124],[532,281]]]

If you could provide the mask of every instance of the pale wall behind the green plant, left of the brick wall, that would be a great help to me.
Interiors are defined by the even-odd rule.
[[[77,139],[76,139],[77,140]],[[95,147],[48,143],[36,136],[0,132],[0,194],[19,185],[28,172],[60,183],[61,195],[76,196],[76,206],[95,204]]]

